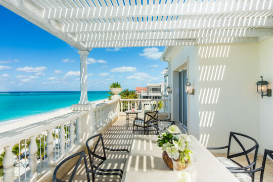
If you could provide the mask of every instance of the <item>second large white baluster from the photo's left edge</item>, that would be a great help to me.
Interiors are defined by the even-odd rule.
[[[34,177],[36,173],[36,166],[37,166],[37,144],[36,144],[36,136],[30,137],[30,144],[29,144],[29,157],[28,157],[28,165],[29,165],[29,174],[28,177]]]

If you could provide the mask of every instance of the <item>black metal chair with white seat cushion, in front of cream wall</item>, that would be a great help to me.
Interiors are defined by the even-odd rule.
[[[255,143],[255,145],[253,147],[251,147],[250,149],[246,150],[245,147],[243,146],[243,144],[241,143],[241,141],[238,139],[237,136],[243,136],[245,139],[249,139],[250,141],[253,141]],[[235,153],[235,154],[230,154],[232,139],[234,139],[237,142],[237,144],[241,147],[241,149],[243,150],[243,152],[239,152],[239,153]],[[228,149],[228,156],[227,156],[228,159],[226,161],[224,161],[223,158],[218,157],[218,160],[220,162],[222,162],[226,166],[226,168],[228,168],[232,173],[234,173],[235,176],[237,174],[242,174],[242,173],[246,174],[246,176],[248,174],[251,177],[251,181],[254,182],[255,171],[253,171],[253,170],[255,169],[256,161],[257,161],[257,155],[258,155],[258,149],[259,149],[258,142],[255,139],[253,139],[250,136],[247,136],[245,134],[231,132],[230,133],[230,139],[229,139],[229,145],[228,146],[219,147],[219,148],[208,147],[207,149],[209,149],[209,150],[218,150],[218,149],[226,149],[226,148]],[[254,159],[251,162],[250,159],[249,159],[248,154],[250,152],[252,152],[253,150],[255,150],[255,152],[254,152]],[[240,164],[239,162],[237,162],[237,161],[234,160],[234,158],[240,157],[240,156],[245,156],[246,157],[248,166],[244,167],[242,164]],[[231,166],[229,166],[229,164],[231,164]],[[242,176],[238,176],[237,175],[237,177],[240,178]]]

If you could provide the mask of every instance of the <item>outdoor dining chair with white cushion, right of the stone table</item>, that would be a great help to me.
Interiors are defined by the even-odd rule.
[[[239,140],[241,139],[241,140]],[[235,140],[233,143],[232,141]],[[248,145],[250,142],[254,142],[254,146],[246,149],[246,147],[242,144],[242,142],[245,144],[247,143]],[[242,152],[235,152],[231,154],[231,148],[233,145],[239,145],[242,149]],[[255,166],[256,166],[256,161],[257,161],[257,155],[258,155],[258,149],[259,149],[259,144],[258,142],[251,138],[248,135],[241,134],[241,133],[236,133],[236,132],[231,132],[230,133],[230,139],[229,139],[229,144],[228,146],[224,147],[219,147],[219,148],[211,148],[208,147],[208,150],[218,150],[218,149],[228,149],[228,155],[227,157],[217,157],[217,159],[226,167],[228,168],[234,175],[240,180],[240,181],[252,181],[254,182],[254,175],[255,175]],[[254,158],[252,161],[250,161],[249,153],[254,151]],[[236,157],[240,156],[245,156],[248,166],[243,166],[239,162],[235,160]]]

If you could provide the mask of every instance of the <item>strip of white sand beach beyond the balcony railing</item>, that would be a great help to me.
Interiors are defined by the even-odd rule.
[[[101,100],[97,100],[97,101],[92,101],[89,103],[102,103],[104,101],[106,101],[107,99],[101,99]],[[4,121],[4,122],[0,122],[0,133],[9,131],[9,130],[13,130],[16,128],[20,128],[29,124],[33,124],[33,123],[37,123],[37,122],[41,122],[50,118],[54,118],[57,116],[61,116],[64,114],[67,114],[71,111],[71,106],[69,107],[65,107],[65,108],[60,108],[60,109],[56,109],[53,111],[48,111],[48,112],[43,112],[43,113],[39,113],[39,114],[33,114],[33,115],[29,115],[29,116],[23,116],[17,119],[11,119],[8,121]]]

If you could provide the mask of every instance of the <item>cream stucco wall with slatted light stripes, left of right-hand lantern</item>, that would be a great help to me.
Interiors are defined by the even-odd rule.
[[[226,146],[230,131],[258,141],[258,43],[198,47],[201,143],[206,147]]]

